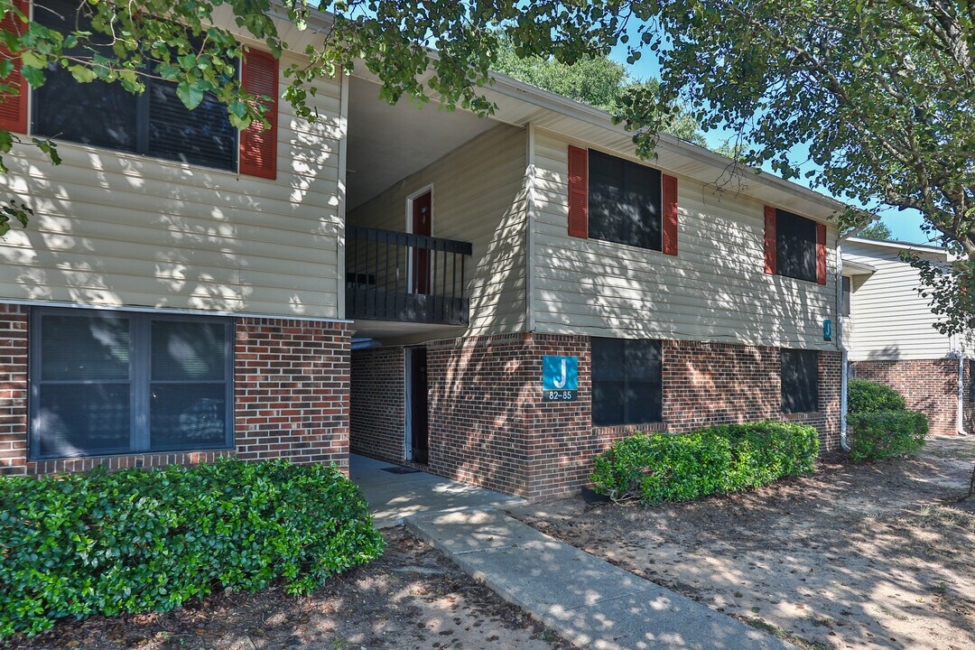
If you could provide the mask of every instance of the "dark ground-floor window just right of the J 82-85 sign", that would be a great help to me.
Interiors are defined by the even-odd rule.
[[[645,424],[663,419],[660,341],[592,339],[593,424]]]

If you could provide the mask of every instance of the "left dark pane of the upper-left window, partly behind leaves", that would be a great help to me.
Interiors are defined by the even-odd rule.
[[[34,19],[61,33],[90,29],[82,19],[75,25],[78,3],[43,0],[34,8]],[[50,11],[49,11],[50,10]],[[83,49],[68,55],[91,56]],[[104,54],[109,55],[110,49]],[[67,70],[50,66],[47,81],[33,91],[34,133],[121,151],[136,151],[137,96],[120,84],[94,81],[79,84]]]

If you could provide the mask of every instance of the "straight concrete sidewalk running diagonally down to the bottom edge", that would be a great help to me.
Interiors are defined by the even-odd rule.
[[[494,510],[411,516],[407,527],[583,648],[796,650]]]

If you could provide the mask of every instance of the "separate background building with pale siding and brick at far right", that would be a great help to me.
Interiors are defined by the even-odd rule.
[[[932,434],[975,431],[973,350],[965,337],[933,327],[938,317],[917,288],[917,269],[901,259],[914,251],[947,262],[945,249],[865,238],[842,243],[844,343],[850,376],[886,384],[927,415]]]

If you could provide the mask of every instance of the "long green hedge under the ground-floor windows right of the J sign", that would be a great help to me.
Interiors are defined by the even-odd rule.
[[[596,459],[590,477],[614,501],[644,506],[759,487],[811,473],[819,436],[808,425],[782,422],[724,425],[689,434],[638,434]]]

